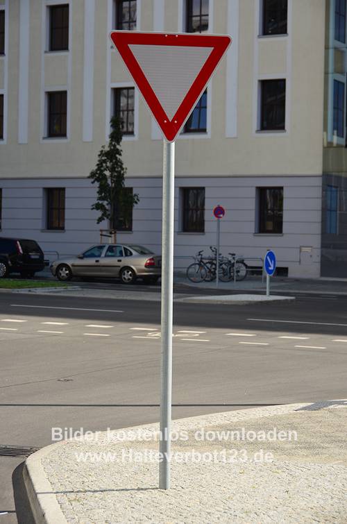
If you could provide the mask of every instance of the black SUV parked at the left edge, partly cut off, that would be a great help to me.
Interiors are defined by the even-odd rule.
[[[0,237],[0,278],[10,273],[32,277],[44,269],[44,254],[35,240]]]

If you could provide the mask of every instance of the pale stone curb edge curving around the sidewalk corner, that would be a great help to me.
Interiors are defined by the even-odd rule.
[[[193,417],[187,417],[185,419],[176,419],[172,421],[172,429],[185,428],[186,430],[192,430],[198,425],[219,425],[226,422],[241,422],[251,419],[259,419],[263,416],[275,416],[280,414],[290,414],[303,409],[305,407],[312,406],[313,410],[322,409],[329,407],[334,400],[329,402],[310,402],[310,403],[296,403],[296,404],[284,404],[274,406],[262,406],[249,409],[237,409],[229,412],[219,412],[214,414],[199,415]],[[142,424],[139,426],[132,426],[130,428],[120,428],[121,430],[158,430],[158,423]],[[42,466],[42,459],[56,449],[56,446],[66,446],[69,441],[61,441],[50,444],[37,452],[30,455],[25,462],[24,466],[24,485],[26,487],[26,493],[28,500],[31,505],[31,511],[36,524],[68,524],[67,520],[60,509],[60,505],[56,498],[55,493],[52,491],[51,484],[46,477],[44,468]]]

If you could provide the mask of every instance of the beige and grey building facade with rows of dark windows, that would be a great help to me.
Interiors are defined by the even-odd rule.
[[[330,274],[326,260],[347,253],[346,215],[333,212],[347,187],[346,49],[331,44],[344,3],[0,0],[0,234],[60,256],[99,242],[108,225],[87,176],[117,114],[139,195],[117,239],[160,252],[162,139],[108,33],[206,31],[233,41],[176,141],[176,267],[215,244],[220,204],[222,253],[272,248],[284,275]]]

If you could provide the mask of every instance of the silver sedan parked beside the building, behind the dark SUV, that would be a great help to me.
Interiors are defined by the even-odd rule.
[[[155,283],[161,276],[162,257],[144,246],[135,244],[97,244],[81,255],[60,258],[51,264],[51,273],[58,280],[72,277],[120,278],[124,284],[137,277]]]

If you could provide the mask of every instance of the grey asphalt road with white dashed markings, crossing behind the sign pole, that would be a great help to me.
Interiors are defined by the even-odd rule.
[[[1,293],[0,355],[0,524],[17,521],[12,474],[18,520],[30,523],[23,457],[1,447],[46,446],[51,428],[158,421],[158,302]],[[346,364],[347,297],[175,304],[175,418],[346,398]]]

